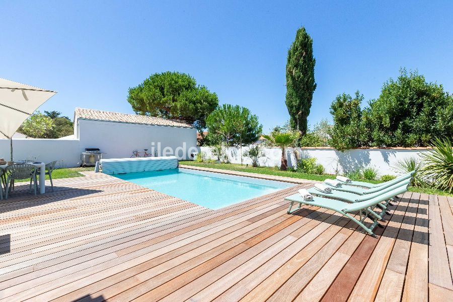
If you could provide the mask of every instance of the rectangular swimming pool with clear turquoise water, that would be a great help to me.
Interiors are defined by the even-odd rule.
[[[263,196],[291,183],[177,168],[113,175],[210,209]]]

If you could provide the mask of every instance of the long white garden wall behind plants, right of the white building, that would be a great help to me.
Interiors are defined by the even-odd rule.
[[[242,154],[248,147],[242,148]],[[260,166],[275,167],[280,166],[281,148],[278,147],[261,147],[265,157],[260,158]],[[393,148],[393,149],[352,149],[344,153],[333,148],[296,148],[302,158],[316,158],[317,162],[322,164],[327,174],[344,174],[349,171],[358,170],[365,167],[374,167],[379,171],[379,175],[397,174],[393,167],[398,160],[410,157],[419,158],[420,153],[427,152],[427,149],[421,148]],[[206,158],[215,157],[212,155],[212,148],[207,146],[199,147],[199,151],[205,154]],[[232,163],[241,163],[241,148],[225,148]],[[288,166],[297,167],[297,160],[294,155],[294,149],[286,150]],[[252,160],[243,157],[244,164],[252,164]]]

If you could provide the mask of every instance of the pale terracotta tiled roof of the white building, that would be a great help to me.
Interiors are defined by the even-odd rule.
[[[99,121],[131,123],[131,124],[145,124],[145,125],[193,128],[192,125],[185,123],[183,121],[165,119],[165,118],[161,118],[161,117],[118,113],[118,112],[85,109],[85,108],[75,108],[74,120],[77,118],[99,120]]]

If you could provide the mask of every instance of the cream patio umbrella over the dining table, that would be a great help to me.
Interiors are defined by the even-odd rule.
[[[45,90],[0,78],[0,138],[11,140],[22,123],[56,91]]]

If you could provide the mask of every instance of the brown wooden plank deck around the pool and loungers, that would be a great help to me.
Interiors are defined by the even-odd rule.
[[[0,301],[453,298],[453,198],[405,193],[374,239],[329,210],[286,214],[311,183],[214,211],[87,174],[0,202]]]

